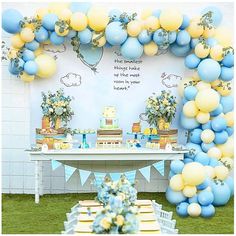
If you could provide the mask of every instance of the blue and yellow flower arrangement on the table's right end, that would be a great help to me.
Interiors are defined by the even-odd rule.
[[[162,90],[161,95],[149,97],[146,101],[146,115],[150,126],[158,127],[158,123],[171,123],[176,113],[176,98],[168,91]]]

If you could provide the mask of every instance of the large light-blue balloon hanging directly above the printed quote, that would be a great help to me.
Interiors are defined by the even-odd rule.
[[[137,38],[129,37],[121,46],[121,54],[128,60],[135,60],[142,56],[143,45],[140,44]]]

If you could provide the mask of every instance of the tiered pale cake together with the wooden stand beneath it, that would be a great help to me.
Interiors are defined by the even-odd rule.
[[[123,131],[119,128],[115,107],[105,107],[97,130],[97,147],[120,147]]]

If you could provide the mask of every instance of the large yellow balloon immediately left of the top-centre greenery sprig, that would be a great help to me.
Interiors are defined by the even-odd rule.
[[[108,13],[101,7],[92,7],[88,11],[89,27],[95,31],[103,31],[109,23]]]

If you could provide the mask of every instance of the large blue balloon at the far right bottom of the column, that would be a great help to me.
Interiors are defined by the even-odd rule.
[[[211,184],[211,190],[214,195],[214,206],[223,206],[227,204],[230,199],[230,188],[228,184],[223,181],[214,180]]]

